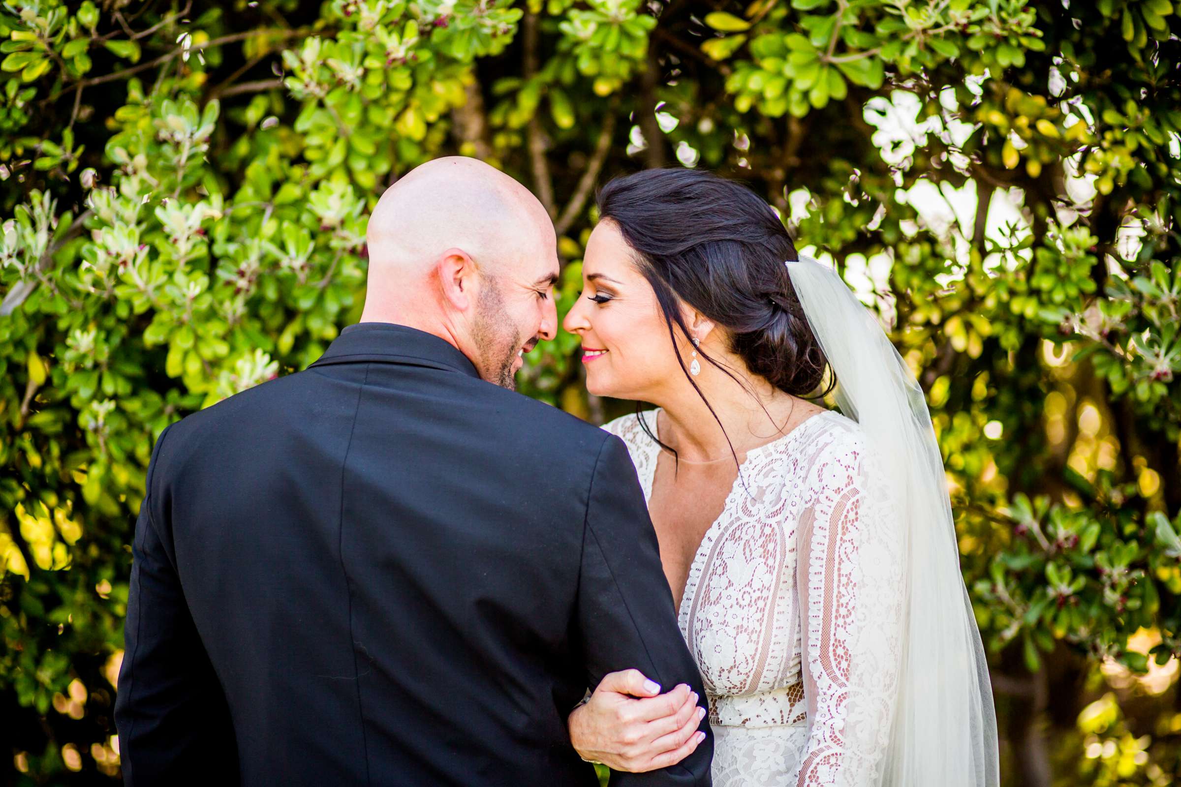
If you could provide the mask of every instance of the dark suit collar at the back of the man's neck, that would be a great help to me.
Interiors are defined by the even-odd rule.
[[[446,340],[392,322],[358,322],[346,326],[312,366],[366,361],[429,366],[479,379],[479,373],[468,356]]]

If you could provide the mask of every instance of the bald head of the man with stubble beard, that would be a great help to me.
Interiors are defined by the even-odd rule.
[[[478,159],[438,158],[402,177],[373,209],[366,240],[361,322],[441,336],[485,379],[509,387],[517,354],[556,332],[549,215],[528,189]]]

